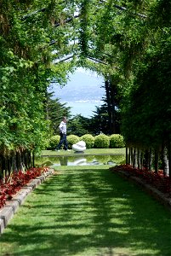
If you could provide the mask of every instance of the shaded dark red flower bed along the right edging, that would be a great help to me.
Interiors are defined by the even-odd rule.
[[[162,193],[171,195],[170,179],[163,176],[162,171],[150,172],[145,169],[140,170],[129,165],[114,166],[110,168],[111,172],[126,172],[129,176],[140,177],[145,183],[151,184]]]

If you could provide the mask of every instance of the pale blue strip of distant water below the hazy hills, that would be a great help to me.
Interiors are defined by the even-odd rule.
[[[96,111],[95,106],[100,107],[104,102],[67,102],[66,107],[71,107],[71,115],[81,114],[84,117],[90,118]]]

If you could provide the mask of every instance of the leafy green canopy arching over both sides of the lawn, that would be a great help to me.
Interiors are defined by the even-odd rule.
[[[43,146],[49,80],[64,85],[76,67],[115,86],[128,144],[170,143],[170,1],[0,0],[0,6],[2,152]]]

